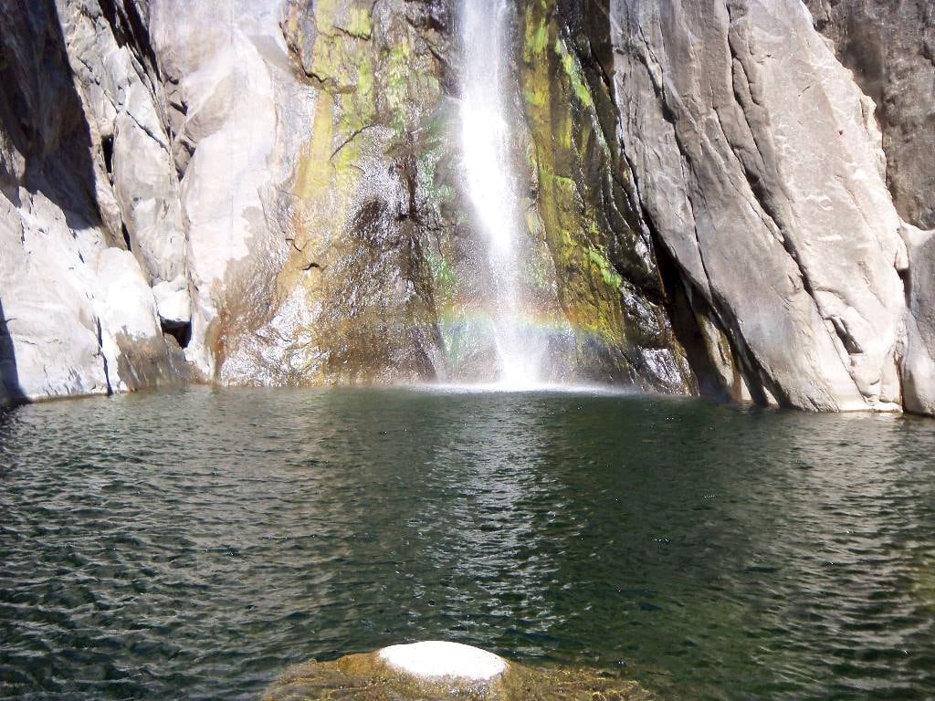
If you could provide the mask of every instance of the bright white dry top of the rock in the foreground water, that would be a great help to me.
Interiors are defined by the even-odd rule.
[[[507,661],[492,652],[460,643],[426,640],[383,648],[380,659],[396,671],[420,679],[451,677],[488,681],[507,671]]]

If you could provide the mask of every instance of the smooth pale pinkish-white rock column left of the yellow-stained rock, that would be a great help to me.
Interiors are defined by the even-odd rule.
[[[290,66],[277,0],[151,3],[193,293],[189,359],[223,375],[276,302],[288,243],[277,219],[314,99]],[[249,381],[258,368],[249,367]]]

